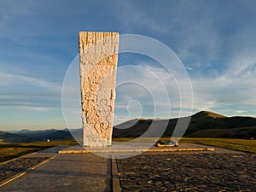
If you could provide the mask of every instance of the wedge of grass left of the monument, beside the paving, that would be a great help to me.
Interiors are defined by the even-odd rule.
[[[44,148],[50,148],[57,145],[74,145],[75,141],[57,141],[57,142],[35,142],[35,143],[15,143],[0,144],[0,162],[11,160],[23,154],[30,154]]]

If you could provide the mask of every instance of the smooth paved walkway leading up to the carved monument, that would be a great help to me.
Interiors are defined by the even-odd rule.
[[[0,191],[111,191],[110,159],[95,154],[56,154],[53,148],[48,152],[32,157],[55,154],[55,159],[3,185]]]

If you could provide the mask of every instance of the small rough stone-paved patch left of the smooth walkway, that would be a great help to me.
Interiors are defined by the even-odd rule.
[[[49,157],[21,157],[16,160],[9,161],[8,163],[1,164],[0,182],[3,182],[3,180],[9,177],[15,176],[20,172],[24,172],[26,169],[47,159],[49,159]]]

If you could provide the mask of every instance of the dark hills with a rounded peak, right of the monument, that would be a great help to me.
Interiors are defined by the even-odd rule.
[[[185,119],[184,117],[181,119]],[[113,137],[140,137],[150,127],[154,137],[157,132],[164,132],[162,137],[171,137],[177,119],[132,119],[113,127]],[[165,129],[165,131],[163,131]],[[256,137],[256,119],[252,117],[226,117],[218,113],[201,111],[191,116],[184,137]]]

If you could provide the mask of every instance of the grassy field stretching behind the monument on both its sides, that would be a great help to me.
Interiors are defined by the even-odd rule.
[[[160,140],[169,140],[170,137],[164,137]],[[155,138],[140,139],[140,143],[152,143]],[[113,138],[114,142],[136,143],[137,140],[132,141],[132,138]],[[229,138],[186,138],[183,137],[179,143],[197,143],[205,144],[220,148],[230,148],[244,152],[256,153],[256,140],[246,139],[229,139]],[[29,154],[44,148],[50,148],[57,145],[76,145],[76,141],[56,141],[56,142],[36,142],[36,143],[16,143],[16,144],[0,144],[0,162],[11,160],[23,154]]]

